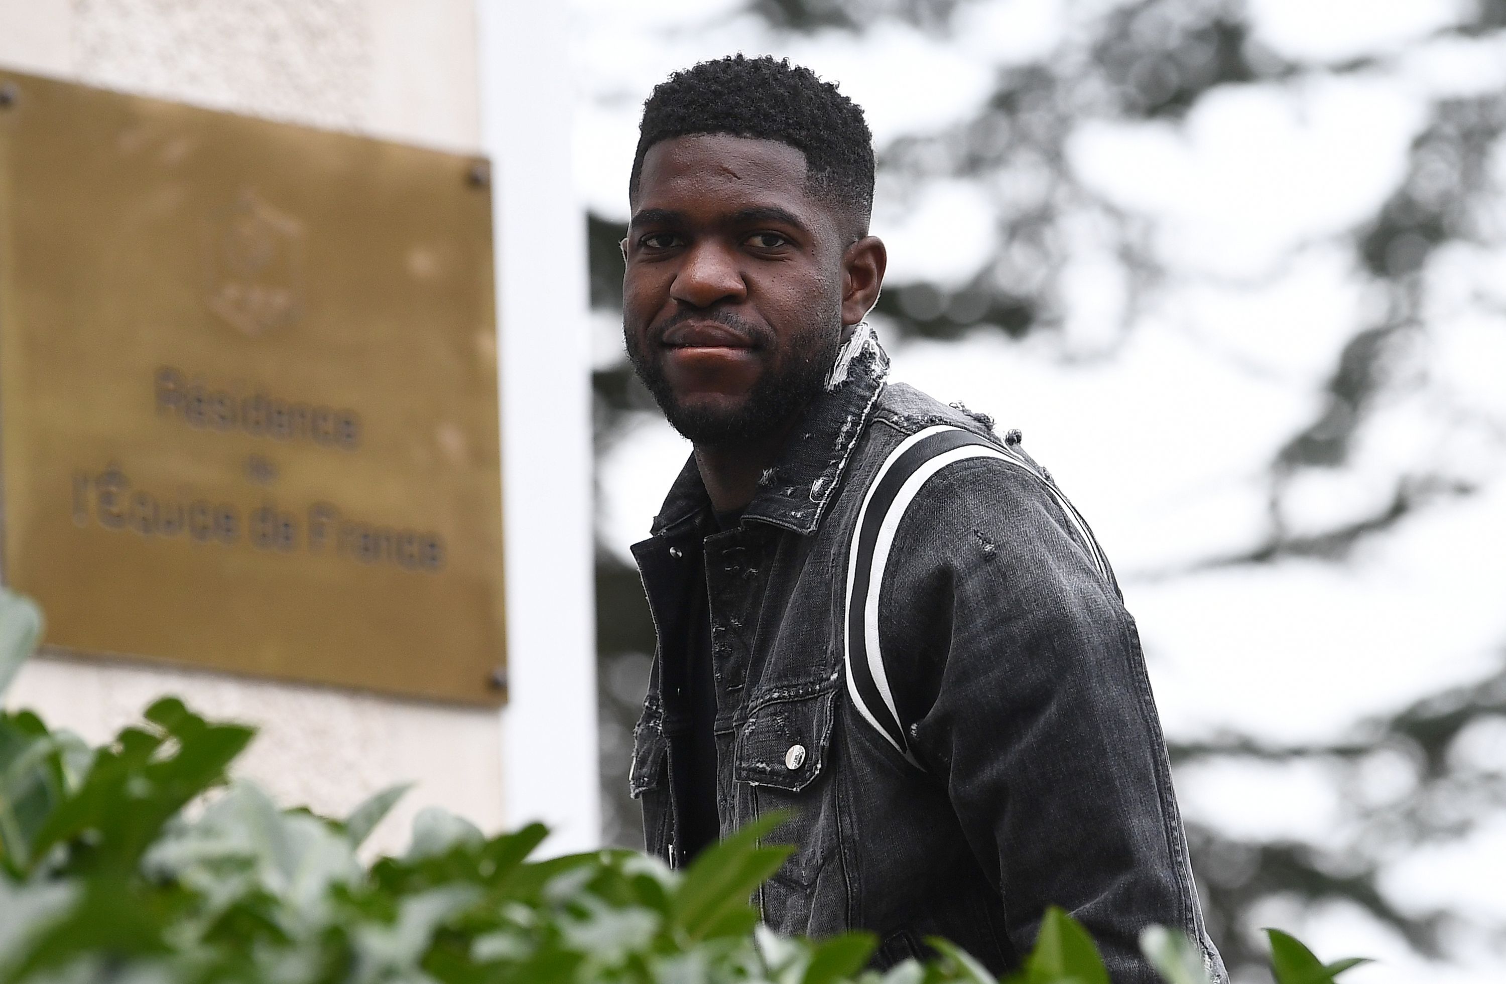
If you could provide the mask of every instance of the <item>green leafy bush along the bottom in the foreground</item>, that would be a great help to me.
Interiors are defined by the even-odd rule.
[[[0,594],[0,694],[41,635],[26,599]],[[533,825],[483,837],[440,809],[408,852],[372,865],[357,847],[402,794],[345,820],[282,809],[226,770],[253,730],[208,722],[176,698],[102,748],[26,710],[0,715],[0,981],[340,981],[470,984],[992,984],[946,940],[937,957],[866,970],[873,939],[785,939],[748,904],[785,847],[747,828],[676,873],[601,850],[529,861]],[[1322,966],[1271,931],[1282,984]],[[1193,948],[1154,928],[1170,984],[1203,984]],[[1092,939],[1051,910],[1021,984],[1108,984]]]

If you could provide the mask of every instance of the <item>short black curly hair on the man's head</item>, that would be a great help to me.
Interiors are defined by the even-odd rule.
[[[643,155],[660,140],[732,134],[777,140],[806,155],[810,185],[867,232],[873,211],[873,134],[863,107],[834,83],[789,59],[742,54],[700,62],[654,87],[643,104],[628,191],[637,194]]]

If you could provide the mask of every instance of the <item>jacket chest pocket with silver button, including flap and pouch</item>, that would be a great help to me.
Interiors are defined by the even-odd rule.
[[[765,841],[795,852],[759,891],[764,921],[783,933],[842,927],[846,879],[840,865],[840,820],[833,728],[837,689],[774,694],[753,706],[733,748],[738,806],[745,823],[771,811],[791,815]]]

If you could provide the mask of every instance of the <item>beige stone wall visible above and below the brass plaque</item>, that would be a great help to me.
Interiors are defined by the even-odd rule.
[[[471,0],[0,0],[0,65],[125,92],[453,150],[480,147]],[[253,722],[241,772],[343,814],[416,781],[373,843],[431,803],[503,817],[495,712],[134,665],[38,659],[8,703],[92,740],[161,694]]]

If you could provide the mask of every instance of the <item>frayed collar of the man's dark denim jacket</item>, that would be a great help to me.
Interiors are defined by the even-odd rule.
[[[744,510],[758,519],[800,534],[813,533],[831,495],[842,483],[857,439],[863,435],[889,373],[889,355],[867,323],[842,348],[827,390],[806,409],[779,462],[764,472]],[[682,525],[711,509],[711,497],[691,454],[669,489],[649,533],[682,533]]]

